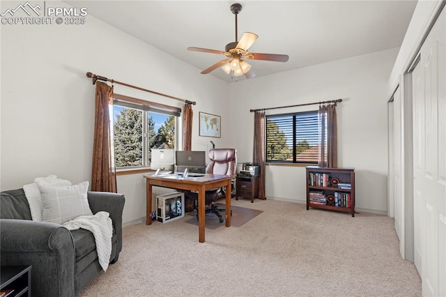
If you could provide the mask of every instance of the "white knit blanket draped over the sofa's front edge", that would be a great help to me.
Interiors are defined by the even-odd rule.
[[[68,230],[79,228],[89,230],[95,236],[96,251],[98,252],[99,264],[104,271],[109,267],[110,254],[112,254],[112,219],[109,213],[99,211],[95,215],[81,215],[73,220],[62,224]]]

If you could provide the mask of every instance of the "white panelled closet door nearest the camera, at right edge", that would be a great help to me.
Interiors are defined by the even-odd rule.
[[[423,296],[446,296],[446,10],[413,71],[415,266]]]

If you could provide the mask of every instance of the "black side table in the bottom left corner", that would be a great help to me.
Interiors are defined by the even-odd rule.
[[[9,291],[5,296],[31,297],[31,266],[1,266],[0,275],[0,291]]]

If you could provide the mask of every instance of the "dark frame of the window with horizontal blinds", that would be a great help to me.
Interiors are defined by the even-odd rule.
[[[307,161],[298,161],[297,160],[297,144],[298,144],[298,137],[296,137],[296,116],[301,116],[305,114],[314,114],[317,119],[317,125],[319,126],[319,114],[318,110],[309,110],[305,112],[291,112],[291,113],[284,113],[284,114],[269,114],[266,115],[266,123],[265,123],[265,160],[266,165],[278,165],[278,166],[307,166],[307,165],[317,165],[318,160],[316,159],[314,162],[307,162]],[[268,160],[268,121],[271,121],[274,118],[280,118],[280,117],[291,117],[291,123],[293,124],[292,130],[293,130],[293,139],[292,139],[292,158],[293,160]],[[321,129],[317,127],[317,139],[318,139],[318,145],[321,144]]]

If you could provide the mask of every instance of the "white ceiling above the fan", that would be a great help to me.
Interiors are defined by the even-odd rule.
[[[288,54],[286,63],[248,60],[257,77],[400,47],[417,1],[64,1],[197,67],[224,59],[187,47],[224,50],[235,40],[232,3],[241,3],[238,39],[249,52]],[[88,21],[88,20],[87,20]],[[130,54],[130,53],[129,53]],[[217,68],[214,75],[233,82]],[[245,77],[238,77],[238,80]]]

